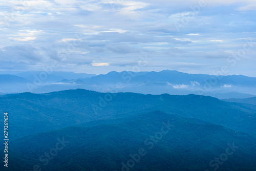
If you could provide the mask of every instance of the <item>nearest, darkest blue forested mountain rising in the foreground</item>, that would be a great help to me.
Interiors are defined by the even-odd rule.
[[[252,171],[255,141],[224,126],[154,111],[13,140],[8,169]]]

